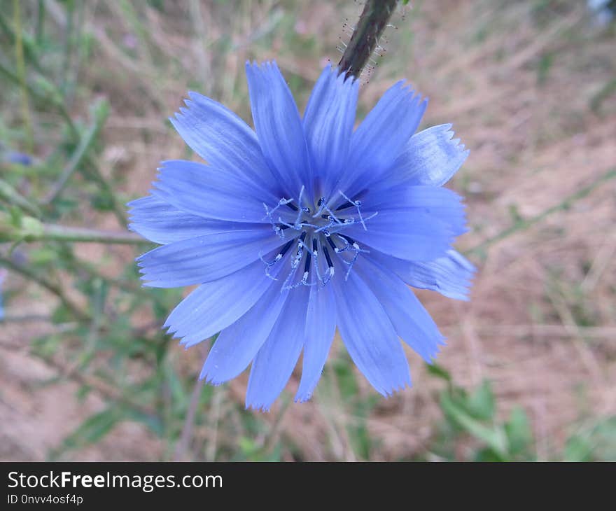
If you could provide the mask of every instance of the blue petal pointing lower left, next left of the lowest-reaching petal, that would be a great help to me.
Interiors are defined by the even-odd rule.
[[[288,291],[274,283],[244,316],[218,336],[201,370],[200,379],[218,385],[235,378],[248,367],[272,331]]]

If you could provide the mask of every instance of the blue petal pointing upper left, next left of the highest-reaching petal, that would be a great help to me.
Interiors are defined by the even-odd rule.
[[[255,132],[209,97],[189,92],[188,109],[169,118],[186,144],[210,165],[267,189],[274,183]],[[267,183],[267,184],[266,184]]]

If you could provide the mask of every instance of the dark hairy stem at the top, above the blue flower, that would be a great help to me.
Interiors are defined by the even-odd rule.
[[[340,72],[346,73],[346,78],[359,78],[363,66],[377,47],[379,38],[395,10],[396,2],[397,0],[366,0],[351,41],[338,64]]]

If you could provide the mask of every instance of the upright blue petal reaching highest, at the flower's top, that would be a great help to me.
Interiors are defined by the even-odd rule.
[[[276,62],[246,62],[246,77],[261,151],[282,187],[276,191],[281,192],[281,197],[295,198],[304,183],[311,186],[312,176],[302,120],[293,95]]]

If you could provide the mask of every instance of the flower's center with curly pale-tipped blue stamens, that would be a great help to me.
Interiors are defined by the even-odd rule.
[[[298,286],[325,286],[335,275],[336,267],[343,264],[344,279],[348,279],[360,253],[368,251],[342,231],[356,223],[367,230],[367,221],[377,215],[362,214],[362,202],[359,199],[363,195],[359,193],[351,199],[339,191],[330,200],[319,197],[311,202],[302,187],[297,199],[283,197],[274,207],[263,204],[265,218],[269,219],[276,235],[289,239],[273,260],[261,258],[265,263],[265,274],[277,280],[271,272],[276,265],[286,264],[285,256],[292,250],[290,271],[282,290]],[[300,267],[303,267],[303,272],[300,272]]]

